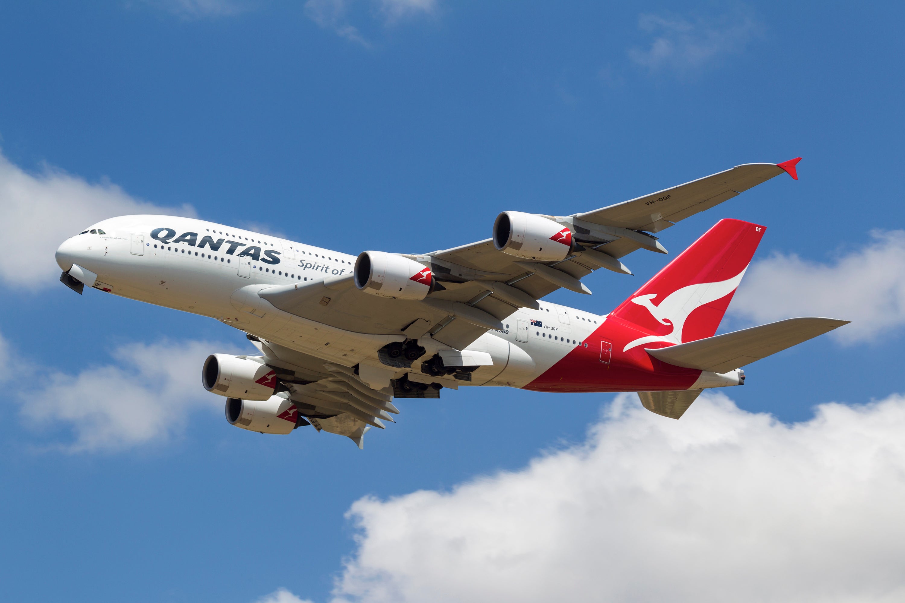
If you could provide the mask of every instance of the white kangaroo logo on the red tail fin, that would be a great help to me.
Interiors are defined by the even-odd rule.
[[[656,293],[633,297],[633,304],[646,307],[647,311],[651,313],[651,316],[658,323],[661,325],[672,325],[672,333],[640,337],[627,344],[623,352],[628,352],[633,347],[641,344],[650,344],[651,342],[681,344],[681,331],[685,326],[685,320],[691,315],[691,312],[735,291],[738,283],[741,282],[741,278],[745,276],[745,270],[747,269],[748,267],[746,266],[736,276],[726,280],[720,280],[715,283],[698,283],[697,285],[676,289],[663,299],[659,306],[654,306],[651,301],[654,297],[657,297]]]

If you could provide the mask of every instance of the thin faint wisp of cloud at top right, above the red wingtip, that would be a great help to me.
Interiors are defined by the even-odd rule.
[[[680,73],[743,51],[759,29],[757,22],[741,10],[693,20],[675,14],[641,14],[638,27],[651,34],[653,41],[647,50],[630,50],[629,58],[651,71]]]

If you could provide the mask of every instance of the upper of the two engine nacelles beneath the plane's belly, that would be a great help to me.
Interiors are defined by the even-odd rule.
[[[205,390],[243,400],[269,400],[277,387],[277,374],[266,364],[242,356],[213,353],[201,371]]]

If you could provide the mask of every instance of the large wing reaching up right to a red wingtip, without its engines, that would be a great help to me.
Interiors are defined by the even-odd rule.
[[[638,249],[666,252],[644,231],[662,231],[784,171],[795,176],[795,163],[738,165],[594,212],[545,216],[569,228],[580,243],[558,262],[520,260],[497,250],[491,239],[406,255],[430,267],[442,284],[423,301],[372,296],[353,287],[351,275],[271,287],[260,295],[286,312],[347,331],[413,339],[430,334],[461,350],[488,330],[505,328],[519,307],[538,307],[538,299],[559,287],[590,293],[581,278],[596,269],[631,274],[619,259]]]

